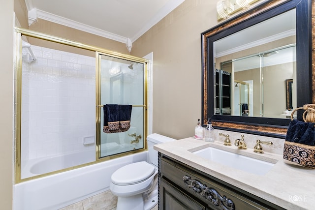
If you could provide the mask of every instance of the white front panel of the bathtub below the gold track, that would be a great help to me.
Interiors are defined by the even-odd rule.
[[[117,169],[129,163],[147,161],[147,153],[147,151],[144,151],[126,155],[15,184],[13,209],[57,210],[107,191],[109,190],[110,177]],[[40,164],[45,165],[43,162]]]

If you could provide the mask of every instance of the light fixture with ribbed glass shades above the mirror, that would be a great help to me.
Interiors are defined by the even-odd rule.
[[[219,0],[217,2],[218,20],[226,19],[242,9],[248,9],[257,1],[259,0]]]

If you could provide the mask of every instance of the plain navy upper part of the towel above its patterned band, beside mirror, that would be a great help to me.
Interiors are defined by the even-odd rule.
[[[286,132],[285,141],[315,146],[315,123],[292,120]]]

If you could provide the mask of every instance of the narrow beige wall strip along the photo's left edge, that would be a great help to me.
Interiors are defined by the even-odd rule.
[[[0,6],[0,205],[12,209],[13,181],[13,0]]]

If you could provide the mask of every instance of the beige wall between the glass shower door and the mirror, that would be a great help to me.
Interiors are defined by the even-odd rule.
[[[218,24],[215,0],[185,0],[133,43],[132,55],[153,52],[153,132],[194,135],[201,118],[201,32]]]

